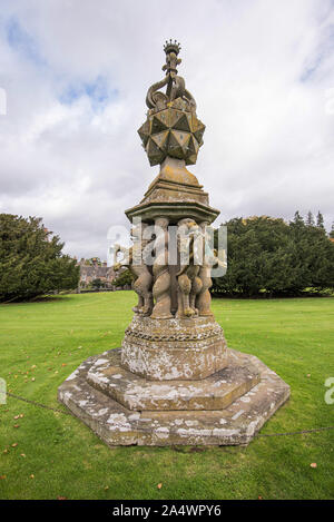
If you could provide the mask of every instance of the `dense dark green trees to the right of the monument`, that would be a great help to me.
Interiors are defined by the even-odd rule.
[[[214,278],[214,294],[297,296],[334,288],[334,226],[330,235],[321,213],[293,220],[255,216],[227,226],[227,273]],[[217,234],[216,234],[217,236]]]

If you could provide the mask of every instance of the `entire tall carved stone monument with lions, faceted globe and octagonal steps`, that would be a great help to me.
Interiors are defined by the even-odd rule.
[[[135,276],[134,318],[121,348],[85,361],[58,391],[109,445],[247,444],[289,396],[258,358],[227,348],[210,311],[210,270],[222,262],[213,249],[198,262],[198,253],[207,254],[206,229],[219,211],[186,168],[205,126],[177,73],[179,51],[166,42],[166,75],[148,89],[138,130],[160,170],[126,210],[132,247],[116,247],[117,265]]]

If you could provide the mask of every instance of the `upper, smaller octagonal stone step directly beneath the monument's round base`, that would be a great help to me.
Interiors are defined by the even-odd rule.
[[[120,366],[120,349],[98,358],[87,382],[128,410],[223,410],[259,382],[258,368],[238,360],[202,381],[147,381]]]

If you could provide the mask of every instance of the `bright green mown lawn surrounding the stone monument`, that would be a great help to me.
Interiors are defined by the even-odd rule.
[[[131,292],[117,292],[0,305],[8,391],[65,410],[57,387],[89,355],[120,346],[134,303]],[[230,347],[291,385],[261,433],[334,425],[324,400],[334,298],[215,299],[213,308]],[[0,499],[333,499],[333,442],[334,430],[247,447],[109,449],[77,418],[9,398],[0,405]]]

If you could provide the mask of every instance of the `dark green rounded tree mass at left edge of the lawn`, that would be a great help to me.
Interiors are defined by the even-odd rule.
[[[76,288],[79,267],[62,247],[41,218],[0,214],[0,302]]]

